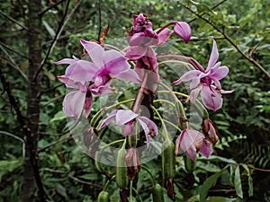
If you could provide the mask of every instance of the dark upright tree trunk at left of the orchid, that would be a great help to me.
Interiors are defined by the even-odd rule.
[[[40,122],[40,76],[36,76],[41,62],[41,11],[40,0],[28,1],[28,46],[29,46],[29,87],[27,98],[27,119],[30,133],[25,134],[25,159],[23,163],[23,202],[38,201],[40,174],[37,158]],[[41,184],[42,185],[42,184]],[[42,195],[41,193],[41,195]],[[43,193],[44,195],[44,193]],[[41,197],[43,198],[43,197]],[[42,200],[40,198],[40,200]]]

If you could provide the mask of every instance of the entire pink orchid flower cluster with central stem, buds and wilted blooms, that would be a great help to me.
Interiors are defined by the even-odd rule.
[[[173,26],[173,29],[170,30],[169,26]],[[59,81],[65,83],[67,88],[70,89],[70,92],[67,92],[63,101],[63,110],[68,117],[80,119],[81,116],[84,116],[87,119],[91,112],[93,96],[103,96],[104,94],[113,92],[112,79],[139,83],[139,90],[134,96],[135,99],[129,110],[126,108],[112,110],[107,118],[95,126],[91,126],[91,129],[86,130],[85,133],[85,141],[87,141],[88,139],[93,139],[88,138],[88,136],[92,134],[91,131],[95,128],[101,130],[103,127],[107,127],[112,123],[121,126],[121,134],[125,138],[121,148],[128,149],[128,153],[125,155],[123,161],[129,167],[127,173],[130,180],[133,180],[140,169],[140,154],[137,150],[137,146],[139,147],[140,145],[137,145],[137,137],[140,140],[146,140],[146,144],[143,144],[149,148],[151,138],[158,135],[157,121],[154,119],[154,114],[157,113],[157,109],[154,107],[154,100],[157,97],[157,86],[159,84],[155,47],[164,45],[173,33],[184,40],[185,43],[188,43],[191,39],[192,32],[186,22],[175,21],[169,22],[154,31],[147,15],[139,13],[139,15],[133,15],[133,25],[128,35],[129,46],[121,52],[115,49],[105,50],[103,48],[104,36],[107,32],[108,29],[103,33],[101,37],[102,41],[100,42],[80,40],[84,48],[84,56],[89,59],[72,57],[64,58],[55,63],[56,65],[68,65],[65,75],[58,76]],[[189,97],[188,100],[192,104],[196,104],[198,95],[201,94],[203,105],[200,104],[200,106],[202,110],[206,110],[205,108],[207,108],[216,111],[222,106],[221,94],[232,91],[224,91],[221,88],[220,80],[228,75],[229,68],[227,66],[221,66],[221,63],[218,62],[219,52],[217,44],[215,40],[212,41],[211,56],[206,69],[193,57],[178,56],[190,62],[193,70],[186,72],[173,83],[178,85],[179,83],[191,81],[189,85],[189,96],[187,96]],[[131,67],[130,64],[135,64],[135,66]],[[162,84],[165,85],[164,83]],[[166,87],[169,89],[168,86]],[[168,92],[175,93],[173,91]],[[175,97],[175,94],[173,95]],[[143,109],[142,107],[145,110],[141,110]],[[181,113],[185,116],[184,108],[181,109]],[[162,123],[162,130],[165,131],[166,128],[164,125],[169,121],[164,121],[159,114],[157,117]],[[173,156],[168,160],[174,162],[175,155],[179,154],[180,151],[194,162],[197,153],[209,157],[211,154],[211,145],[215,145],[218,141],[219,134],[211,119],[208,118],[208,115],[203,115],[202,132],[188,127],[188,123],[184,122],[186,120],[182,119],[182,117],[177,117],[177,119],[180,119],[179,126],[171,125],[177,130],[180,130],[181,133],[177,136],[175,144],[171,144],[170,149],[173,148],[171,149],[173,153],[170,150],[165,150]],[[162,131],[162,134],[165,142],[171,139],[171,136],[168,136],[167,132],[163,133]],[[130,136],[135,136],[135,138],[131,138]],[[100,137],[96,136],[96,138]],[[91,143],[85,143],[85,145],[91,147]],[[91,150],[91,154],[93,153],[93,150]],[[166,166],[166,168],[168,167]],[[164,184],[167,195],[169,198],[174,199],[173,172],[175,169],[173,166],[170,168],[171,171],[165,174]],[[165,171],[165,169],[163,170]],[[125,186],[121,187],[121,198],[126,198],[125,188]]]

